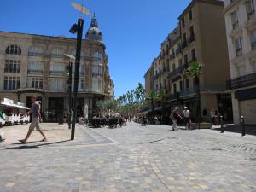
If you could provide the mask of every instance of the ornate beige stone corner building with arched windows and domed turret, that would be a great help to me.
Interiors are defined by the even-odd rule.
[[[17,32],[0,32],[0,97],[31,105],[37,95],[46,120],[54,120],[58,111],[67,112],[67,66],[75,55],[76,39]],[[108,56],[102,43],[102,32],[95,17],[82,43],[79,70],[78,113],[95,103],[113,97],[113,80],[109,76]],[[73,65],[74,73],[74,65]]]

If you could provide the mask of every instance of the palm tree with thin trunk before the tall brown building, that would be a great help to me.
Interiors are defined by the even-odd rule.
[[[203,68],[203,65],[199,62],[192,61],[189,65],[189,68],[187,68],[183,72],[184,78],[192,78],[195,79],[195,85],[197,87],[196,89],[196,96],[197,96],[197,102],[196,103],[196,116],[197,121],[199,123],[199,129],[200,129],[200,123],[201,123],[201,94],[200,94],[200,75],[201,70]]]

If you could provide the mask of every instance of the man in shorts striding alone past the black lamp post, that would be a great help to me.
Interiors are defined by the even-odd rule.
[[[26,143],[28,137],[30,137],[32,131],[36,128],[37,131],[39,131],[39,133],[43,136],[42,142],[46,142],[47,139],[39,125],[39,123],[42,121],[42,116],[40,113],[40,105],[37,102],[37,96],[32,96],[31,100],[32,100],[32,108],[27,113],[25,113],[20,119],[23,119],[26,115],[29,115],[30,113],[32,113],[32,122],[27,131],[26,138],[21,139],[19,141],[20,141],[20,143]]]

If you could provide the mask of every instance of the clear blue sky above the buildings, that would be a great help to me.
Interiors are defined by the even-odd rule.
[[[79,13],[71,3],[84,3],[96,12],[115,96],[144,84],[143,75],[160,52],[160,43],[177,26],[177,17],[190,0],[8,0],[1,1],[0,30],[65,35]],[[85,18],[84,33],[90,25]]]

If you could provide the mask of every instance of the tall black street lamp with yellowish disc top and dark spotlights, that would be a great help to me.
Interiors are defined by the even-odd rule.
[[[84,20],[82,15],[90,15],[90,11],[84,7],[84,5],[79,5],[78,3],[72,3],[72,6],[79,10],[79,20],[77,24],[73,24],[69,32],[72,34],[77,33],[77,49],[75,58],[75,73],[74,73],[74,86],[73,86],[73,114],[72,114],[72,129],[71,129],[71,140],[74,140],[75,126],[77,121],[77,98],[78,98],[78,88],[79,88],[79,67],[80,67],[80,56],[82,47],[82,37],[83,37],[83,27]]]

